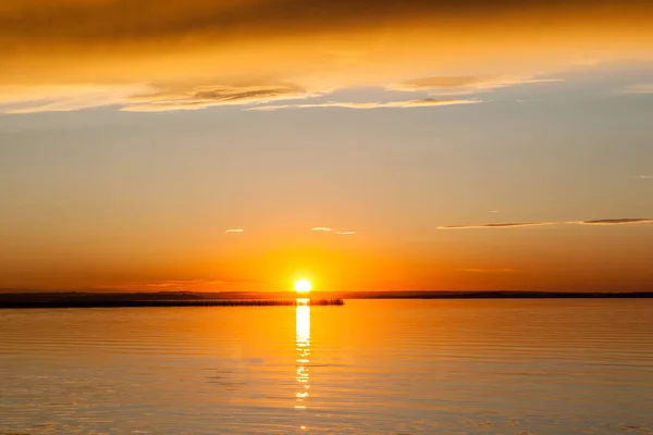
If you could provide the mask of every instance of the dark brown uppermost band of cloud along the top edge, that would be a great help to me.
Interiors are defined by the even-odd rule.
[[[650,8],[639,0],[10,0],[0,8],[0,38],[101,41],[208,33],[225,39],[365,29],[405,20],[491,22],[545,13],[559,21],[581,12],[616,20],[642,9]]]

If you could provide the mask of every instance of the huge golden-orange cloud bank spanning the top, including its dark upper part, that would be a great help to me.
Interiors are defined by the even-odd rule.
[[[653,4],[641,0],[370,4],[3,0],[0,95],[11,88],[15,98],[0,111],[193,110],[359,86],[483,91],[587,59],[650,59],[653,46]],[[61,87],[70,92],[48,90]]]

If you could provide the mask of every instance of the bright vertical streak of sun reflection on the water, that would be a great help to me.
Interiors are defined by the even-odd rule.
[[[308,385],[308,363],[310,358],[310,307],[308,299],[297,299],[296,313],[296,341],[297,351],[296,374],[297,393],[295,394],[295,408],[306,409],[310,386]]]

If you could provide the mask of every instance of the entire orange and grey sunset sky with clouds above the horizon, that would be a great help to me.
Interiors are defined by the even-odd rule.
[[[653,5],[3,0],[0,291],[653,290]]]

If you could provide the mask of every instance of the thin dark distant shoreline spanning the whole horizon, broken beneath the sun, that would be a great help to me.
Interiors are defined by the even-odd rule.
[[[282,293],[7,293],[0,309],[138,308],[138,307],[274,307],[295,306],[294,291]],[[626,299],[653,298],[653,291],[315,291],[312,306],[342,306],[346,299]]]

